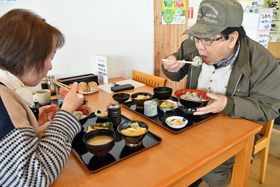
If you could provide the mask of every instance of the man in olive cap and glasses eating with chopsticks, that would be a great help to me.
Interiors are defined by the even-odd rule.
[[[267,49],[246,36],[242,21],[243,8],[236,0],[202,1],[196,23],[183,33],[189,39],[166,58],[170,62],[162,63],[166,77],[180,81],[187,75],[186,88],[204,90],[213,99],[194,115],[223,112],[260,124],[279,116],[279,64]],[[204,62],[198,67],[177,62],[196,56]],[[256,134],[254,145],[259,138]],[[226,186],[233,164],[234,157],[201,179],[211,187]]]

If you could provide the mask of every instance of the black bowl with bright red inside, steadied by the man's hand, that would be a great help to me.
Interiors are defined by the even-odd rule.
[[[195,92],[199,97],[206,99],[207,101],[188,101],[185,99],[181,99],[181,95],[185,95],[187,92]],[[207,103],[211,100],[211,98],[207,97],[207,92],[197,89],[180,89],[175,92],[175,95],[180,102],[181,105],[184,107],[189,108],[188,113],[193,113],[196,111],[197,108],[205,107]]]

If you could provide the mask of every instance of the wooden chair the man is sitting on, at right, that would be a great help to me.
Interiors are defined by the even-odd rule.
[[[255,152],[261,151],[261,169],[260,169],[260,178],[259,182],[263,183],[264,182],[264,176],[265,176],[265,170],[267,168],[267,157],[268,157],[268,149],[269,149],[269,143],[270,143],[270,137],[271,137],[271,132],[274,124],[274,119],[265,122],[263,125],[263,128],[261,128],[261,138],[258,140],[258,142],[255,145]],[[231,167],[231,179],[227,185],[227,187],[232,187],[233,186],[233,179],[234,179],[234,165]]]

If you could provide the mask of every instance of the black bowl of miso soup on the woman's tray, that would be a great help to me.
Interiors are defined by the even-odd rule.
[[[100,135],[111,136],[113,140],[102,145],[90,145],[86,143],[90,138],[95,136],[100,136]],[[85,134],[83,137],[83,141],[89,152],[91,152],[94,155],[103,155],[103,156],[105,156],[106,153],[111,151],[111,149],[115,144],[115,139],[116,139],[116,133],[110,129],[104,129],[104,128],[90,131],[87,134]]]

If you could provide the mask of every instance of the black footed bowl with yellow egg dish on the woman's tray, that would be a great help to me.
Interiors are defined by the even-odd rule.
[[[139,134],[139,135],[135,135],[135,136],[129,136],[129,135],[125,135],[121,133],[121,130],[130,128],[130,124],[137,122],[139,124],[140,127],[146,128],[146,132],[144,132],[143,134]],[[127,146],[130,147],[136,147],[136,146],[140,146],[143,143],[143,138],[146,136],[148,130],[149,130],[149,125],[145,122],[141,122],[141,121],[127,121],[127,122],[123,122],[118,126],[118,132],[121,134],[121,136],[123,137],[123,139],[125,140],[125,144]]]

